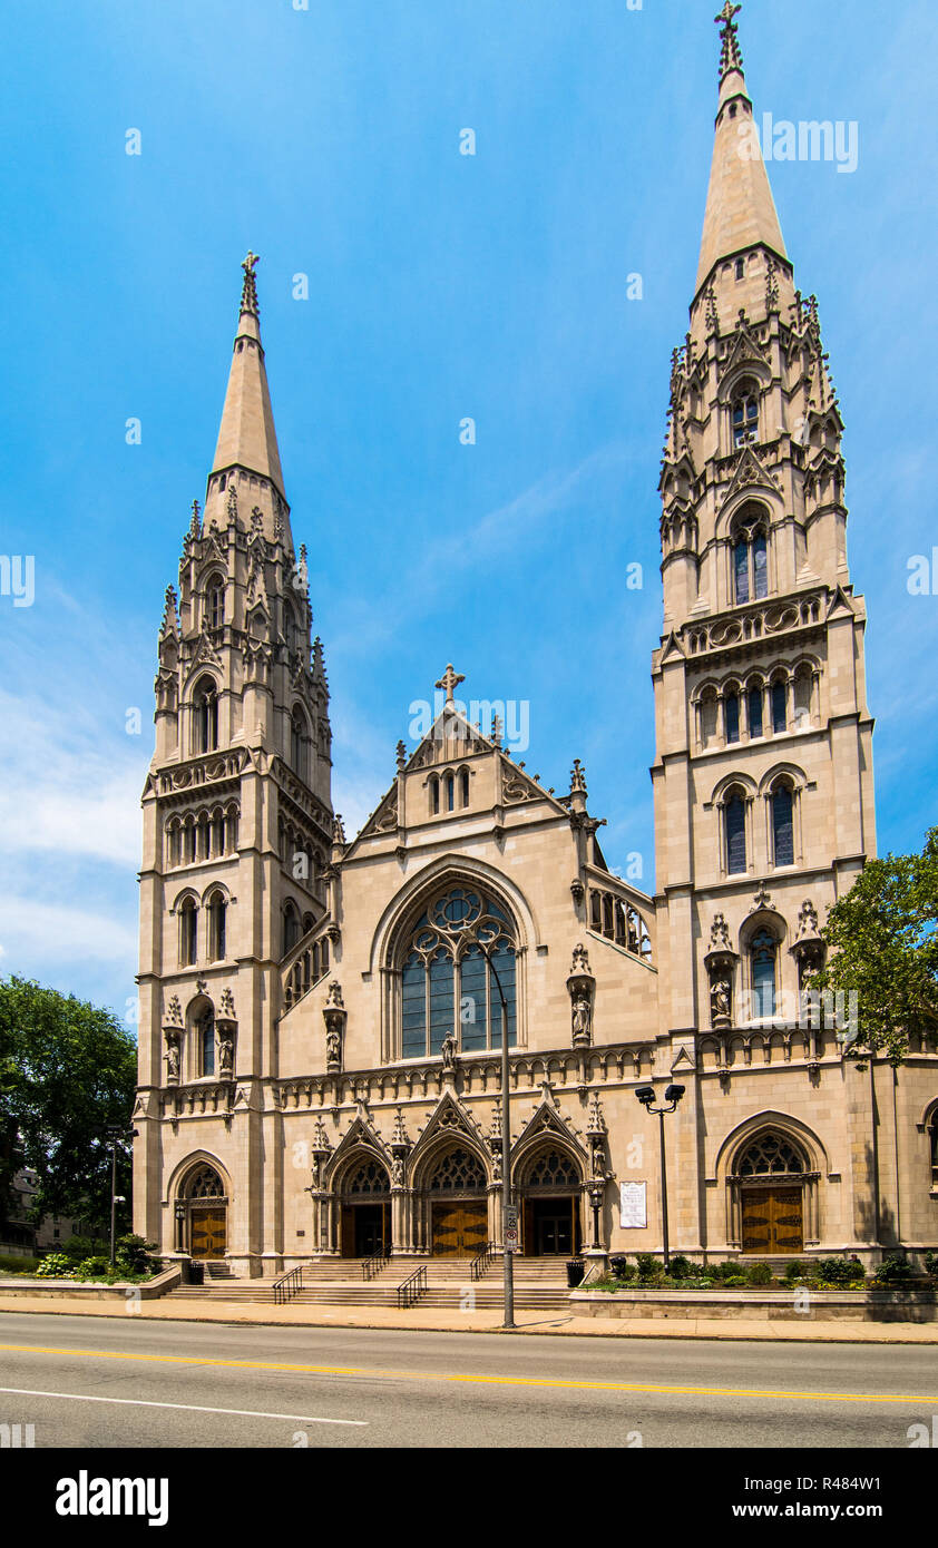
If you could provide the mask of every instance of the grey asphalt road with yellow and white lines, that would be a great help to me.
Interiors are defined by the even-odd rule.
[[[36,1447],[885,1447],[938,1348],[0,1316],[0,1424]]]

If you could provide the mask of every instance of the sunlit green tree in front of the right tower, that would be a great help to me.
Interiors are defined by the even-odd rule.
[[[912,1033],[938,1042],[938,828],[921,854],[868,861],[820,933],[828,961],[810,986],[856,994],[853,1057],[898,1065]]]

